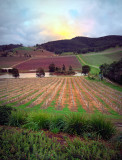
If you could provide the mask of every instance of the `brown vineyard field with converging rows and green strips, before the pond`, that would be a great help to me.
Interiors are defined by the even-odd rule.
[[[119,116],[121,96],[121,92],[83,77],[0,80],[0,103],[27,111],[73,111]]]

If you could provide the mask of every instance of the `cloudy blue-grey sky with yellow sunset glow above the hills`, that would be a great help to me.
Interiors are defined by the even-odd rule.
[[[0,45],[122,35],[122,0],[0,0]]]

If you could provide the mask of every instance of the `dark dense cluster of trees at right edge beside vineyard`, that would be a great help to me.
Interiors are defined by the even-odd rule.
[[[110,80],[122,84],[122,59],[112,64],[103,64],[100,66],[100,73]]]

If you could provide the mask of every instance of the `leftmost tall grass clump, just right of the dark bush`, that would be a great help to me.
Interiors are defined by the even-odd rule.
[[[9,125],[21,127],[26,123],[27,117],[28,117],[28,114],[22,110],[12,111],[9,119]]]

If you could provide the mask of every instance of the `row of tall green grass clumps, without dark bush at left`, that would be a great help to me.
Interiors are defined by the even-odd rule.
[[[101,117],[101,119],[99,117]],[[99,128],[95,130],[93,121],[96,119],[100,124],[101,121],[103,121],[104,125],[108,125],[108,128]],[[83,133],[94,131],[96,134],[100,134],[103,139],[106,139],[106,136],[110,138],[115,133],[114,126],[101,114],[95,113],[93,116],[89,116],[84,112],[82,112],[82,114],[77,112],[63,114],[63,112],[54,112],[54,108],[52,107],[48,108],[48,112],[24,112],[23,110],[13,111],[10,116],[9,125],[21,126],[32,130],[58,130],[58,132],[66,132],[79,136],[82,136]],[[107,134],[104,136],[101,135],[100,130],[103,130],[105,133],[107,132]]]

